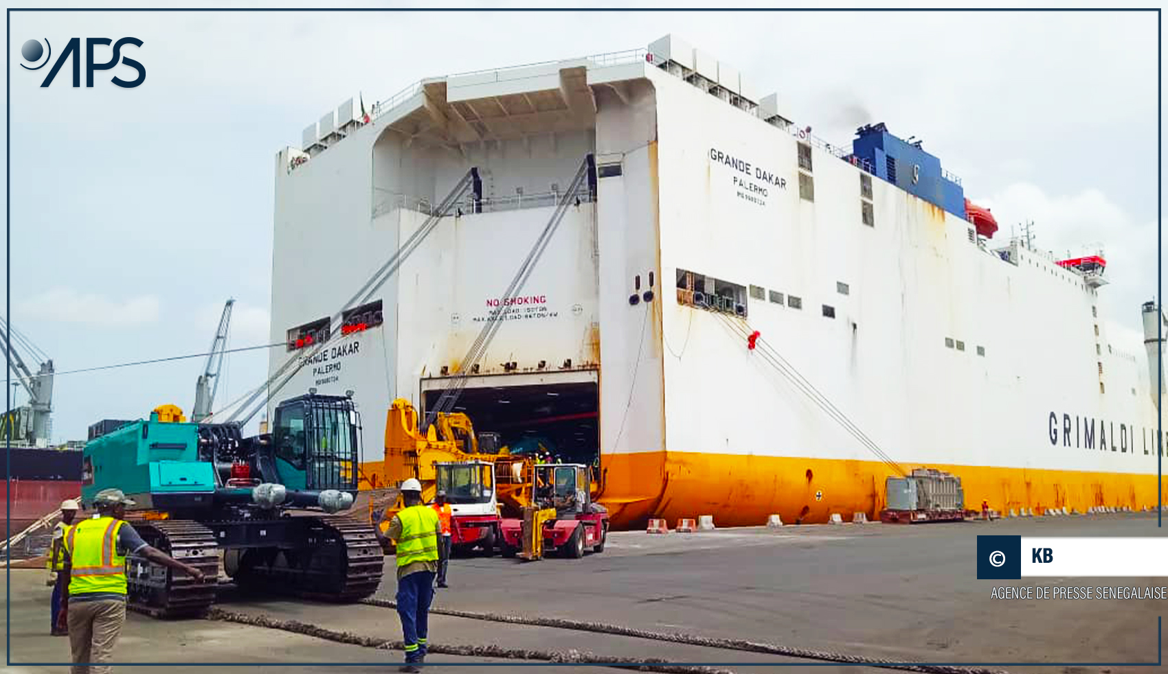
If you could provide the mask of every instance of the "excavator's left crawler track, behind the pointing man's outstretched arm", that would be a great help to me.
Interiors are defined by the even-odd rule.
[[[127,608],[155,618],[202,615],[215,603],[218,584],[218,546],[203,525],[185,520],[130,519],[150,546],[190,564],[206,576],[195,581],[182,571],[155,564],[146,557],[126,556]]]

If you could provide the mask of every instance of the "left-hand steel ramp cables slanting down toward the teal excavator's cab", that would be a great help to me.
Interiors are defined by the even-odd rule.
[[[347,311],[353,307],[357,307],[364,302],[368,302],[369,297],[373,296],[373,294],[382,286],[382,283],[388,281],[390,276],[397,273],[397,269],[401,268],[402,264],[406,260],[406,258],[409,258],[410,254],[413,253],[413,251],[416,251],[418,246],[422,245],[423,241],[425,241],[426,237],[429,237],[430,233],[434,230],[434,227],[438,226],[438,223],[444,217],[450,215],[450,211],[454,208],[454,205],[459,202],[459,199],[461,199],[466,195],[466,191],[471,189],[475,180],[478,180],[477,168],[472,168],[471,170],[466,171],[466,175],[463,176],[463,178],[454,185],[454,188],[450,191],[450,194],[447,194],[446,197],[438,205],[437,211],[432,212],[430,217],[426,218],[424,223],[422,223],[422,226],[415,230],[415,232],[410,234],[409,238],[406,238],[404,244],[398,246],[394,255],[390,257],[389,260],[387,260],[385,264],[383,264],[376,272],[374,272],[373,276],[370,276],[369,280],[366,281],[363,286],[361,286],[361,288],[353,295],[353,297],[350,297],[349,301],[346,302],[341,307],[341,309],[333,315],[333,317],[328,322],[329,335],[332,335],[333,332],[340,332],[340,328],[343,324],[345,311]],[[342,342],[343,339],[345,337],[342,337]],[[253,389],[255,393],[248,398],[246,402],[239,406],[239,409],[237,409],[227,419],[227,422],[238,421],[241,426],[248,423],[251,420],[251,417],[255,416],[262,408],[266,407],[267,401],[270,401],[272,396],[279,393],[280,389],[283,389],[284,386],[287,385],[287,382],[291,381],[293,377],[296,377],[296,374],[300,371],[300,368],[304,367],[306,363],[311,361],[312,358],[314,358],[318,353],[320,353],[320,350],[324,349],[325,345],[328,343],[329,342],[327,339],[321,339],[307,354],[297,353],[290,357],[287,360],[285,360],[284,364],[280,365],[280,367],[274,373],[269,375],[267,380],[264,384]],[[333,344],[336,343],[334,342]],[[281,377],[284,379],[277,384],[277,380],[279,380]],[[256,401],[259,400],[260,395],[263,395],[264,399],[258,406],[256,406]],[[242,417],[241,414],[243,414]]]

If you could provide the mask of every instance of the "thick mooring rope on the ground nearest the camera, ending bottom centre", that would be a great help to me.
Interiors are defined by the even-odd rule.
[[[339,630],[328,630],[326,627],[320,627],[318,625],[310,625],[307,623],[301,623],[299,620],[281,620],[278,618],[271,618],[269,616],[253,616],[250,613],[239,613],[236,611],[224,611],[223,609],[217,609],[217,608],[211,608],[210,610],[208,610],[206,617],[208,620],[222,620],[225,623],[251,625],[253,627],[281,630],[284,632],[293,632],[297,634],[304,634],[306,637],[314,637],[317,639],[335,641],[338,644],[364,646],[367,648],[377,648],[382,651],[401,651],[403,647],[403,644],[401,641],[391,641],[377,637],[366,637],[362,634],[355,634],[353,632],[342,632]],[[619,669],[635,669],[639,672],[661,672],[663,674],[734,674],[729,669],[718,669],[715,667],[674,665],[667,660],[659,660],[659,659],[600,657],[589,653],[586,651],[577,651],[577,650],[530,651],[527,648],[505,648],[495,644],[488,646],[465,646],[465,645],[450,646],[450,645],[433,644],[433,643],[431,643],[426,647],[426,650],[430,653],[438,655],[461,655],[466,658],[501,658],[505,660],[530,660],[530,661],[549,662],[552,665],[557,662],[598,665],[606,667],[616,667]],[[437,665],[437,662],[434,662],[434,665]]]

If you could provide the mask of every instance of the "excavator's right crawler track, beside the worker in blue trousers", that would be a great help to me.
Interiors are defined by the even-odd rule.
[[[352,517],[294,517],[304,541],[244,550],[234,574],[245,591],[334,603],[356,602],[381,585],[385,560],[373,527]]]

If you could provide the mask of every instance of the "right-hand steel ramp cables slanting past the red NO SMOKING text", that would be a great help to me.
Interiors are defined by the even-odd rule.
[[[523,259],[523,264],[520,265],[519,272],[516,272],[503,294],[499,295],[499,314],[494,317],[487,318],[487,324],[479,331],[479,336],[474,339],[474,343],[471,344],[471,349],[466,352],[466,356],[459,364],[459,372],[446,382],[446,386],[443,388],[443,392],[438,396],[438,401],[434,403],[433,408],[426,410],[425,420],[419,428],[422,433],[426,431],[430,424],[438,417],[438,414],[449,413],[454,407],[454,402],[458,400],[458,396],[466,388],[466,381],[471,370],[486,354],[487,346],[491,345],[491,340],[494,339],[495,334],[499,332],[499,328],[503,323],[503,317],[507,315],[508,308],[506,302],[522,290],[523,285],[527,283],[527,280],[531,276],[535,265],[538,264],[540,258],[543,257],[543,252],[548,247],[548,241],[551,240],[551,237],[559,227],[559,223],[563,222],[564,215],[568,212],[569,203],[576,198],[580,185],[584,184],[584,181],[588,178],[591,166],[592,155],[588,155],[584,161],[580,162],[580,167],[577,169],[576,176],[572,177],[572,182],[564,191],[564,196],[559,199],[559,203],[556,204],[556,210],[552,211],[548,224],[544,225],[543,231],[540,232],[538,238],[536,238],[535,245],[531,246],[531,250]]]

